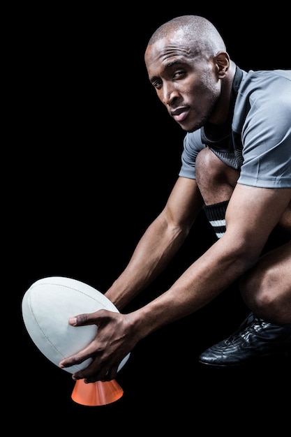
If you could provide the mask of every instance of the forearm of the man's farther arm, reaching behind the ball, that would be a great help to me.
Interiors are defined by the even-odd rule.
[[[149,286],[183,244],[188,230],[171,226],[158,216],[137,244],[123,273],[105,293],[119,311]]]

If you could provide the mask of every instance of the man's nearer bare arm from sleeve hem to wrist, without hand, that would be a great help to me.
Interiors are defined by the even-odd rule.
[[[225,235],[167,292],[133,313],[132,323],[140,338],[200,309],[246,272],[258,260],[290,197],[289,188],[237,184],[227,207]]]

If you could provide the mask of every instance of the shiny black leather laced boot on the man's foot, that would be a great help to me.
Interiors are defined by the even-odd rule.
[[[249,314],[239,329],[199,357],[201,364],[241,366],[262,357],[291,354],[291,325],[274,325]]]

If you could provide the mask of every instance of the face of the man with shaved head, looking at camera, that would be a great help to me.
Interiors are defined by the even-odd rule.
[[[147,47],[144,60],[158,98],[181,128],[192,132],[214,121],[221,80],[213,59],[191,57],[183,38],[167,36]]]

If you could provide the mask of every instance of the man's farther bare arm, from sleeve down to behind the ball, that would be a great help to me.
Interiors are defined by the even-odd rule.
[[[128,266],[105,293],[119,311],[165,269],[201,207],[195,180],[179,177],[165,208],[140,239]]]

